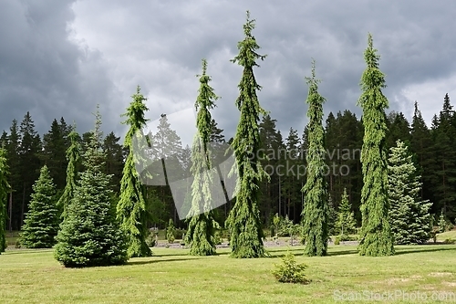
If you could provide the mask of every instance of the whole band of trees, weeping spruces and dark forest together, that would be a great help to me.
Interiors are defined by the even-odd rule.
[[[257,53],[260,47],[253,30],[254,19],[247,13],[244,40],[232,59],[243,72],[235,100],[240,120],[231,139],[225,139],[210,114],[218,97],[209,86],[205,61],[195,103],[199,113],[192,148],[182,147],[179,134],[162,114],[157,130],[142,134],[147,141],[141,159],[133,155],[134,137],[147,122],[146,99],[139,87],[124,115],[130,129],[122,143],[114,132],[102,137],[98,114],[95,130],[81,134],[63,117],[52,121],[42,135],[36,132],[31,113],[26,112],[20,123],[13,120],[0,137],[0,236],[5,229],[22,228],[24,245],[52,246],[53,239],[33,239],[36,226],[45,223],[36,214],[46,211],[52,225],[41,225],[37,231],[56,235],[60,218],[57,259],[78,266],[88,262],[88,257],[73,257],[75,248],[82,246],[74,234],[84,213],[93,215],[94,210],[106,215],[94,215],[94,221],[106,225],[113,238],[104,242],[99,237],[102,232],[94,229],[88,241],[98,242],[94,244],[99,257],[109,250],[116,252],[109,264],[150,256],[149,228],[164,228],[167,223],[188,229],[186,240],[192,254],[212,255],[215,230],[224,227],[233,257],[264,257],[264,228],[274,226],[281,217],[290,226],[302,224],[310,256],[326,255],[328,235],[354,232],[355,226],[360,227],[359,253],[379,256],[394,254],[393,242],[424,242],[430,215],[454,221],[456,115],[448,94],[430,126],[417,102],[411,122],[402,112],[387,114],[389,104],[382,93],[386,82],[369,35],[358,100],[362,119],[344,110],[329,112],[323,122],[325,99],[317,91],[314,62],[312,77],[307,79],[309,123],[302,133],[290,128],[282,134],[257,97],[261,86],[254,68],[266,56]],[[233,189],[210,194],[212,183],[223,184],[219,164],[226,158],[222,149],[213,148],[225,143],[233,149],[238,169],[233,200],[228,198],[228,190]],[[138,162],[146,170],[138,172]],[[202,173],[205,170],[213,175]],[[183,203],[175,204],[171,184],[176,187],[176,182],[189,177],[192,183],[177,186]],[[213,205],[221,206],[211,210]],[[409,233],[410,227],[415,234]],[[46,232],[51,228],[52,233]],[[115,247],[117,241],[122,245]],[[4,243],[0,238],[0,251]]]

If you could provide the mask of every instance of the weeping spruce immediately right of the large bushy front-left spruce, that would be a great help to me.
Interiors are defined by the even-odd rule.
[[[146,207],[146,187],[140,182],[140,173],[135,167],[135,154],[133,153],[133,136],[146,126],[148,121],[144,113],[149,110],[144,101],[147,100],[140,93],[140,86],[136,94],[131,96],[130,107],[123,116],[127,117],[124,123],[130,126],[125,136],[124,146],[129,150],[127,160],[123,167],[120,181],[120,198],[117,204],[117,216],[122,229],[129,236],[129,257],[150,257],[152,252],[146,244],[149,234],[147,227],[148,213]]]

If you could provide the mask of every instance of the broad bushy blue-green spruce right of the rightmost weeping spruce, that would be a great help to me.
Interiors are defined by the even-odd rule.
[[[398,140],[389,154],[389,223],[396,244],[422,244],[430,239],[430,203],[420,198],[417,173],[407,145]]]

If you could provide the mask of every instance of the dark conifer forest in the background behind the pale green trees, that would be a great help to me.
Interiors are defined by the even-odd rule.
[[[306,109],[303,107],[303,115]],[[265,226],[272,224],[275,214],[288,216],[295,223],[300,222],[303,209],[301,188],[306,182],[306,128],[299,132],[290,128],[288,134],[276,129],[276,121],[270,115],[262,117],[260,137],[262,151],[267,156],[262,162],[266,173],[271,175],[270,182],[261,184],[259,209]],[[418,103],[415,103],[414,115],[408,121],[402,112],[388,114],[389,131],[386,134],[388,148],[396,145],[397,140],[406,142],[413,155],[415,165],[421,175],[421,197],[429,199],[431,213],[443,213],[454,222],[456,217],[456,115],[452,110],[450,97],[444,96],[442,109],[432,118],[427,126],[422,118]],[[47,164],[54,183],[57,186],[56,200],[62,194],[66,184],[67,158],[69,146],[68,134],[71,126],[64,118],[52,121],[50,130],[43,135],[36,132],[34,121],[29,112],[20,123],[12,122],[9,131],[3,131],[0,147],[5,147],[9,165],[8,182],[12,193],[8,197],[7,229],[19,230],[24,223],[32,185],[39,176],[40,168]],[[188,146],[182,147],[179,136],[166,119],[161,117],[161,125],[154,137],[172,138],[168,142],[177,152],[181,163],[182,176],[188,176],[191,168]],[[81,143],[88,142],[89,132],[80,134]],[[168,134],[168,135],[167,135]],[[361,163],[359,162],[363,142],[363,124],[349,110],[330,112],[325,123],[326,178],[333,207],[340,204],[344,188],[347,188],[348,200],[352,205],[358,226],[361,223],[359,212],[360,193],[363,185]],[[212,121],[212,142],[230,142],[225,139],[223,130]],[[84,149],[84,144],[82,147]],[[123,148],[123,142],[114,133],[109,132],[104,138],[105,172],[112,174],[111,188],[119,195],[119,181],[123,162],[129,153]],[[82,171],[80,168],[79,171]],[[150,226],[164,227],[172,218],[174,223],[185,228],[179,220],[171,190],[168,186],[147,186]],[[224,197],[220,197],[224,200]],[[117,201],[114,197],[113,200]],[[216,209],[217,221],[223,225],[233,202],[223,204]]]

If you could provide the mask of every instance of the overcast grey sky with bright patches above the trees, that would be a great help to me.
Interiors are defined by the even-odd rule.
[[[0,131],[27,110],[40,133],[61,116],[88,131],[99,103],[103,129],[123,135],[119,115],[137,85],[151,121],[167,113],[174,129],[189,131],[195,75],[207,58],[222,97],[213,116],[233,136],[242,68],[230,59],[244,37],[246,10],[256,20],[259,53],[267,54],[254,70],[260,103],[284,137],[307,122],[311,58],[326,115],[348,109],[359,117],[368,32],[386,74],[389,110],[410,118],[417,100],[430,122],[445,93],[456,99],[453,1],[0,0]]]

